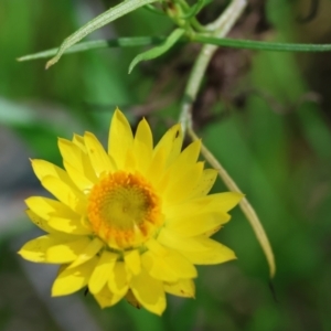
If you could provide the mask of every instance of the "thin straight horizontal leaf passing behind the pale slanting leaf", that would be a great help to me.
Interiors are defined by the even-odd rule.
[[[105,47],[136,47],[136,46],[149,46],[158,45],[166,40],[166,36],[132,36],[132,38],[118,38],[110,40],[96,40],[89,42],[83,42],[73,45],[64,51],[63,54],[78,53]],[[18,61],[29,61],[54,56],[57,49],[52,49],[34,54],[24,55],[18,58]]]

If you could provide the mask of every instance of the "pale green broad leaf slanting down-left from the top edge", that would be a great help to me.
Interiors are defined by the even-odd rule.
[[[74,32],[72,35],[66,38],[63,43],[61,44],[56,55],[51,58],[46,63],[46,70],[54,65],[62,54],[67,50],[68,47],[76,44],[78,41],[81,41],[83,38],[85,38],[87,34],[94,32],[95,30],[115,21],[116,19],[140,8],[146,4],[156,2],[158,0],[126,0],[120,2],[114,8],[110,8],[109,10],[105,11],[100,15],[96,17],[95,19],[87,22],[85,25],[83,25],[81,29],[78,29],[76,32]]]

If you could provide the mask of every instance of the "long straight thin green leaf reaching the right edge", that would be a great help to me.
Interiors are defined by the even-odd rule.
[[[203,44],[212,44],[233,49],[247,49],[258,51],[274,52],[328,52],[331,51],[331,44],[295,44],[295,43],[269,43],[263,41],[239,40],[239,39],[218,39],[196,34],[192,39]]]

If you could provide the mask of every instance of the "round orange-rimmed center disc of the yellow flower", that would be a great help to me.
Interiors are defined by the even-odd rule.
[[[109,247],[132,248],[163,224],[161,201],[140,175],[118,171],[94,185],[88,196],[88,221]]]

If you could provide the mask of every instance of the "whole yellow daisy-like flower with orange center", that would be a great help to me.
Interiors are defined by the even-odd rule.
[[[52,296],[84,287],[102,308],[126,298],[161,314],[166,292],[194,297],[194,265],[235,258],[210,238],[229,220],[242,194],[207,195],[217,172],[197,161],[201,143],[183,151],[180,125],[153,148],[142,119],[134,137],[120,110],[111,119],[108,153],[90,134],[58,139],[64,169],[32,160],[42,185],[56,200],[25,202],[31,221],[47,234],[19,254],[60,264]]]

